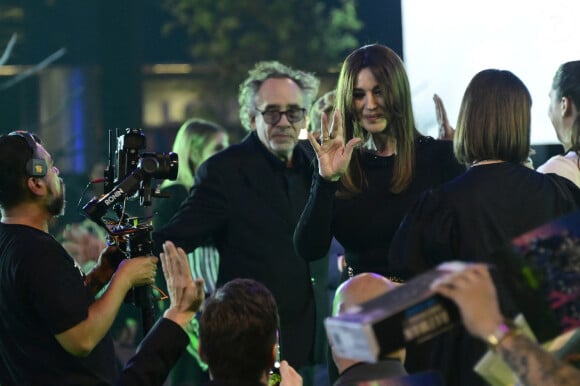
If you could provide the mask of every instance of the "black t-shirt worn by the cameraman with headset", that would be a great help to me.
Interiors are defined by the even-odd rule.
[[[0,223],[0,384],[112,384],[117,367],[108,335],[82,358],[54,338],[86,319],[93,301],[52,236]]]

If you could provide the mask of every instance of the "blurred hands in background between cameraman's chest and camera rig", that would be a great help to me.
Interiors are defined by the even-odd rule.
[[[82,223],[77,223],[65,228],[62,246],[79,265],[85,266],[98,260],[107,243],[100,235],[90,232]]]

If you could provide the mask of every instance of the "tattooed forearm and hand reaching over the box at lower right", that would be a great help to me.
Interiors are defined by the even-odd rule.
[[[505,333],[504,318],[487,266],[475,264],[435,283],[434,290],[457,304],[463,324],[473,336],[487,342],[496,331],[504,329]],[[580,371],[513,331],[499,338],[496,350],[525,385],[577,385],[580,379]]]

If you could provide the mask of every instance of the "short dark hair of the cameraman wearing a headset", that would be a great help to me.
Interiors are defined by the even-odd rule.
[[[34,137],[34,141],[39,139]],[[34,150],[21,135],[0,137],[0,207],[10,209],[30,198],[26,180],[27,164],[35,157]]]

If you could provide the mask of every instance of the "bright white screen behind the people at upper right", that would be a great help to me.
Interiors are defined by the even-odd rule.
[[[580,59],[577,0],[401,0],[404,61],[417,127],[437,136],[433,94],[455,126],[467,84],[509,70],[532,94],[532,144],[557,143],[548,92],[558,66]]]

